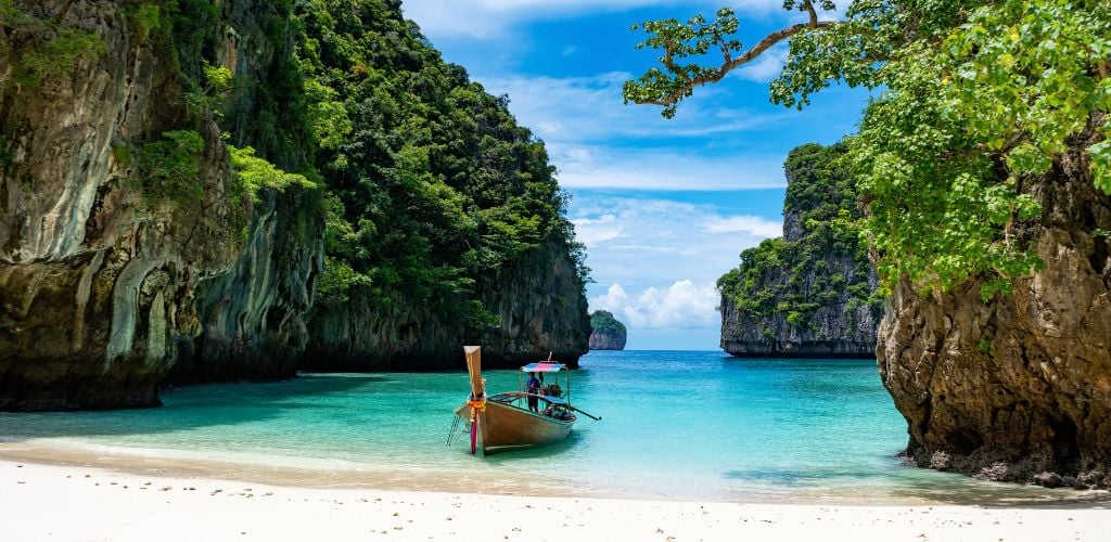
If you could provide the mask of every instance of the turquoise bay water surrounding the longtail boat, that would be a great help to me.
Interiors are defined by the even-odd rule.
[[[871,360],[630,351],[592,352],[581,365],[572,400],[602,421],[580,416],[563,443],[484,459],[467,453],[466,435],[447,445],[468,390],[463,370],[303,374],[172,390],[161,409],[0,414],[0,450],[252,465],[322,485],[761,502],[1078,495],[901,466],[894,455],[907,443],[905,423]],[[491,393],[518,385],[517,371],[486,377]]]

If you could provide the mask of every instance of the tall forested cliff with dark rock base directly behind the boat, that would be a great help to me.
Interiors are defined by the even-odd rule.
[[[307,77],[350,126],[318,157],[340,198],[303,367],[462,368],[462,344],[482,344],[491,368],[549,352],[575,364],[584,269],[543,143],[399,2],[343,6],[298,8]]]

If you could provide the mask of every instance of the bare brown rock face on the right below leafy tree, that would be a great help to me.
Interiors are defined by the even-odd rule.
[[[907,418],[914,464],[1108,488],[1111,198],[1093,188],[1082,154],[1030,191],[1043,213],[1019,237],[1045,269],[990,303],[979,283],[928,297],[902,285],[880,325],[880,373]]]

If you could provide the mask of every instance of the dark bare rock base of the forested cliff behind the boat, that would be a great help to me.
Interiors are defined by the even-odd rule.
[[[438,307],[378,307],[362,297],[320,303],[309,323],[310,370],[458,368],[462,344],[482,344],[482,364],[516,368],[553,358],[577,367],[590,322],[568,248],[549,242],[532,258],[480,285],[497,325],[470,329]]]

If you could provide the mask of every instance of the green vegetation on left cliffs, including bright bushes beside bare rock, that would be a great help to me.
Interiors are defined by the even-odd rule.
[[[383,311],[430,304],[481,328],[497,322],[478,281],[544,242],[568,247],[585,278],[543,143],[517,126],[506,97],[443,62],[399,2],[256,7],[272,64],[258,76],[221,66],[217,22],[228,14],[211,2],[170,2],[162,20],[147,2],[130,12],[141,32],[168,32],[184,103],[219,119],[236,145],[243,187],[233,197],[290,182],[323,190],[323,301],[358,289]]]

